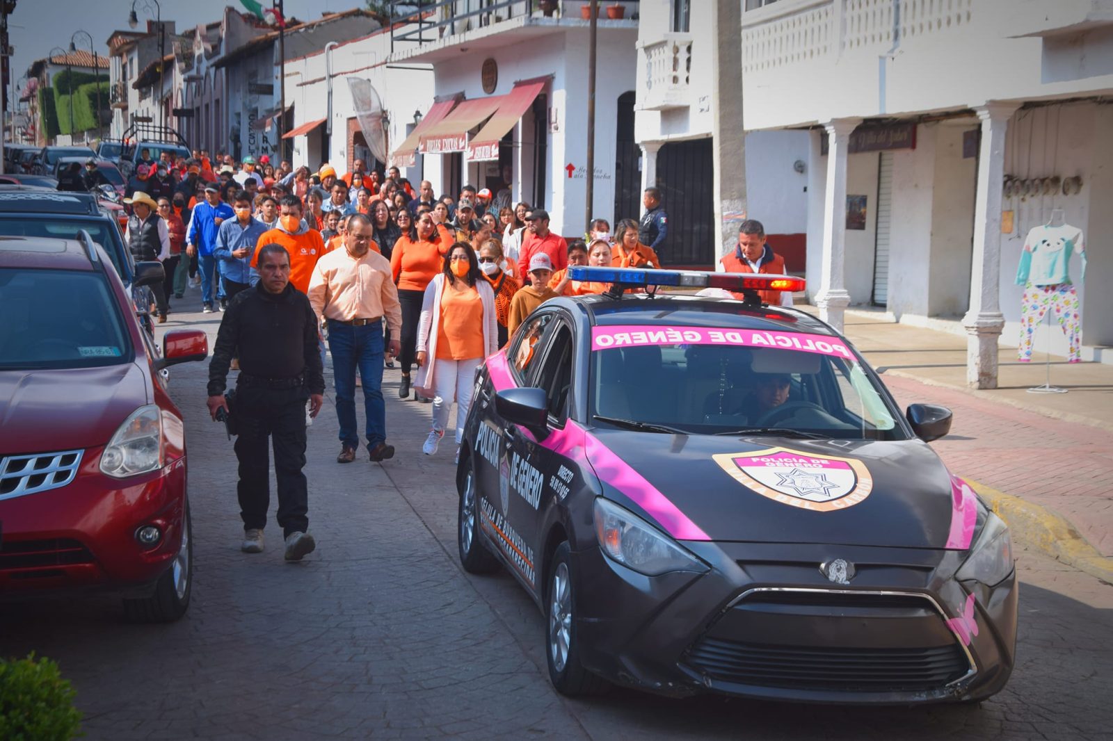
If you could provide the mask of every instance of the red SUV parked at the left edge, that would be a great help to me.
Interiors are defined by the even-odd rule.
[[[162,280],[136,265],[135,284]],[[193,576],[186,441],[166,366],[203,360],[200,330],[159,353],[108,255],[0,237],[0,596],[83,587],[170,621]]]

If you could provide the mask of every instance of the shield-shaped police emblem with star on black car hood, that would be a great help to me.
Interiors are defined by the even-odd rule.
[[[715,462],[747,488],[775,502],[830,512],[858,504],[874,488],[861,461],[815,456],[785,447],[723,453]]]

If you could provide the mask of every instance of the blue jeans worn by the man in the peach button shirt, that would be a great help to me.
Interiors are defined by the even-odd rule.
[[[336,384],[336,417],[341,443],[359,446],[355,418],[355,372],[363,382],[363,407],[367,416],[367,449],[386,439],[386,404],[383,402],[383,326],[381,323],[353,327],[328,320],[328,349],[333,354]]]

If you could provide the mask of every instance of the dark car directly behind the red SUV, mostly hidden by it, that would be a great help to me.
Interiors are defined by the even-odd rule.
[[[119,214],[93,194],[0,186],[0,236],[76,239],[82,230],[105,248],[132,296],[140,324],[154,336],[150,289],[135,285],[135,263],[124,244]],[[126,226],[127,219],[122,220]]]

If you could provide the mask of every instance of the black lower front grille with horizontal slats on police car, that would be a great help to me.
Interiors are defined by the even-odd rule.
[[[967,673],[957,644],[925,649],[757,645],[703,638],[687,662],[712,680],[836,692],[920,691]]]

